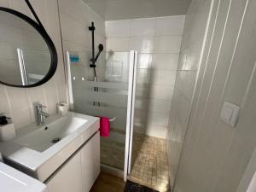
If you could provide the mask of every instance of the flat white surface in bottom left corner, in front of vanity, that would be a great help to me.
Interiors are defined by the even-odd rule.
[[[47,192],[46,185],[0,162],[0,191]]]

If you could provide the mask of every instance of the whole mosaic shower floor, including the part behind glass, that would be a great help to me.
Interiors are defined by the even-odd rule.
[[[125,144],[113,143],[108,138],[102,138],[101,142],[102,162],[123,170]],[[165,139],[134,133],[131,160],[132,169],[128,179],[160,192],[168,191],[170,186]]]

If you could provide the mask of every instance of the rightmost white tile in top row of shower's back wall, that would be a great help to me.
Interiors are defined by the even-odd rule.
[[[160,17],[155,22],[155,36],[183,34],[185,15]]]

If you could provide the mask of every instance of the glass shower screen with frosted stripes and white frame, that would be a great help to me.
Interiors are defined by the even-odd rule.
[[[131,166],[131,141],[137,73],[137,52],[103,52],[94,70],[86,53],[67,51],[67,77],[71,109],[110,119],[109,137],[101,137],[102,166],[127,172]],[[76,57],[78,59],[73,60]]]

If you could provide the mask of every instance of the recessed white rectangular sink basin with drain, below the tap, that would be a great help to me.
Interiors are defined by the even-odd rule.
[[[67,137],[73,131],[76,131],[88,120],[79,119],[72,116],[64,116],[56,119],[54,122],[40,126],[24,136],[16,137],[14,142],[27,148],[32,148],[43,152],[55,143],[58,143],[64,137]]]

